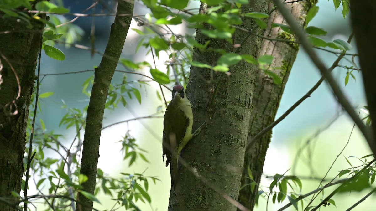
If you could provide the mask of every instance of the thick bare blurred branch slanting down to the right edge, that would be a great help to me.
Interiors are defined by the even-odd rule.
[[[349,114],[350,118],[353,119],[355,124],[358,126],[359,130],[362,131],[365,139],[368,142],[368,145],[371,148],[371,151],[373,154],[376,154],[376,143],[374,142],[374,137],[372,134],[372,131],[367,128],[362,120],[358,117],[355,110],[353,109],[350,102],[347,100],[346,96],[344,96],[343,92],[341,91],[340,87],[334,80],[333,76],[329,71],[327,71],[327,68],[325,67],[324,63],[321,62],[321,60],[318,58],[315,51],[312,49],[312,45],[309,43],[308,39],[306,38],[306,35],[302,29],[295,23],[295,20],[293,17],[291,17],[290,13],[287,11],[285,5],[280,2],[280,0],[273,0],[274,4],[278,7],[279,12],[285,17],[285,20],[290,25],[291,30],[295,33],[296,37],[301,42],[301,45],[305,49],[308,56],[311,58],[312,62],[317,66],[317,68],[320,70],[323,77],[326,78],[327,83],[332,88],[332,91],[337,98],[338,102],[342,105],[342,107],[346,110],[346,112]]]

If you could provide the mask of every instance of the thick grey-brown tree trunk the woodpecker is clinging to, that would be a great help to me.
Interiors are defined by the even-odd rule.
[[[200,6],[200,12],[206,5]],[[244,12],[267,12],[265,0],[250,0],[242,7]],[[252,29],[256,24],[244,18],[241,27]],[[256,30],[261,35],[262,30]],[[233,44],[240,44],[247,32],[237,30]],[[211,41],[208,48],[220,48],[233,52],[235,47],[227,41],[210,39],[200,30],[196,40],[204,44]],[[240,54],[251,54],[256,59],[260,51],[261,39],[251,36],[241,46]],[[213,51],[200,52],[194,49],[193,60],[214,65],[221,56]],[[191,67],[187,85],[187,97],[193,109],[193,128],[206,121],[206,127],[191,140],[180,155],[179,182],[170,192],[168,210],[236,210],[243,170],[244,150],[252,108],[253,90],[257,66],[240,62],[230,67],[220,83],[220,73],[205,68]],[[206,83],[211,80],[214,83]],[[211,105],[213,92],[215,103]]]

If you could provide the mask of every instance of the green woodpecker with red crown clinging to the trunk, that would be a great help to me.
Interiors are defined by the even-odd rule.
[[[180,152],[193,137],[192,124],[191,103],[185,96],[184,87],[176,85],[163,120],[163,161],[166,156],[166,167],[171,163],[171,187],[177,184]]]

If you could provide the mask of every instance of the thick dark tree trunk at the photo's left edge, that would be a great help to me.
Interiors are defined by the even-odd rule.
[[[30,20],[28,26],[0,15],[0,197],[9,202],[0,202],[0,210],[8,211],[18,206],[12,191],[21,191],[27,117],[44,24]]]

